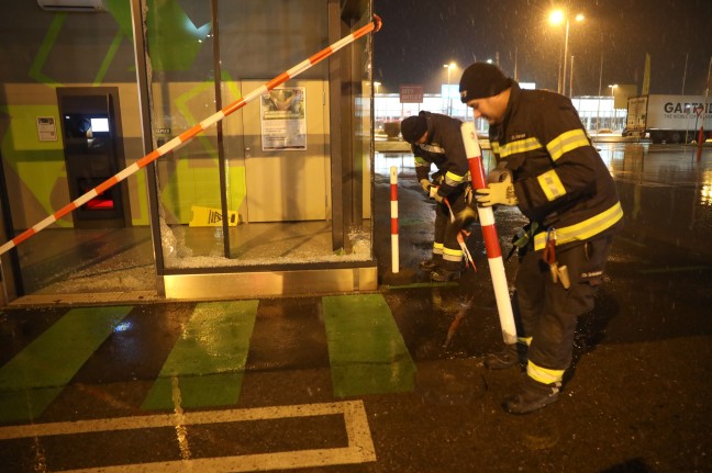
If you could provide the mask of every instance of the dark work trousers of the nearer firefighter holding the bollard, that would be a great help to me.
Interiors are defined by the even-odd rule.
[[[520,262],[515,280],[515,315],[523,334],[531,337],[529,360],[549,370],[566,370],[571,363],[574,335],[579,315],[593,308],[612,237],[557,248],[559,267],[568,267],[571,286],[554,283],[543,251],[530,251]]]

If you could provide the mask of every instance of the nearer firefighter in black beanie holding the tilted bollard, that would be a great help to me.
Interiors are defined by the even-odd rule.
[[[513,308],[519,344],[490,354],[490,369],[526,360],[507,412],[557,401],[571,363],[577,317],[593,308],[612,236],[623,223],[615,184],[571,101],[522,90],[490,64],[476,63],[459,83],[464,103],[490,124],[497,169],[478,205],[518,205],[530,223],[514,237],[520,268]]]

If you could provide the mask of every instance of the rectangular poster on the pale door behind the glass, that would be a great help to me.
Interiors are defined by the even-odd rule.
[[[304,88],[274,89],[262,95],[263,151],[307,149]]]

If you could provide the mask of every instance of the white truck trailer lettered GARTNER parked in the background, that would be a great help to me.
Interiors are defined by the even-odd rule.
[[[704,139],[712,137],[712,103],[703,95],[641,95],[628,98],[623,136],[645,137],[653,143],[698,140],[700,126]]]

